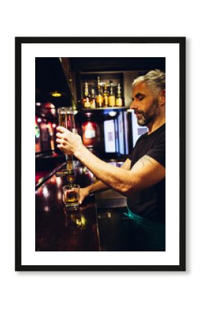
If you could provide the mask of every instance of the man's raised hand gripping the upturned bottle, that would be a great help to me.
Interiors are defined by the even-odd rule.
[[[65,154],[72,155],[81,148],[82,140],[79,134],[70,132],[64,127],[57,127],[57,147]]]

